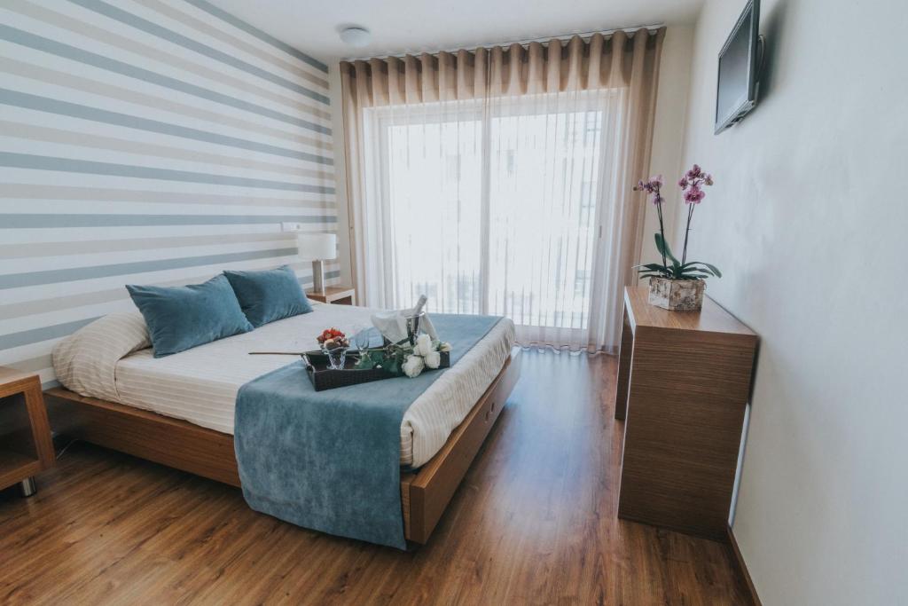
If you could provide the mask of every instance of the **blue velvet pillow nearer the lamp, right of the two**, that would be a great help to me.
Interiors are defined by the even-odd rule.
[[[289,265],[263,272],[226,271],[224,275],[236,293],[242,313],[256,328],[312,311],[312,305]]]

